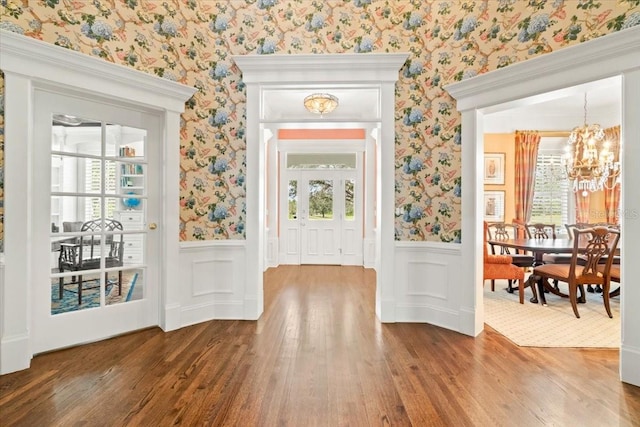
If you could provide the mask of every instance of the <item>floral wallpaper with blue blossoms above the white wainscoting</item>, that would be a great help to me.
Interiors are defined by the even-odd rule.
[[[3,29],[197,88],[176,153],[183,241],[245,237],[245,91],[231,55],[410,52],[396,85],[396,239],[459,242],[460,115],[442,87],[640,24],[640,0],[0,5]]]

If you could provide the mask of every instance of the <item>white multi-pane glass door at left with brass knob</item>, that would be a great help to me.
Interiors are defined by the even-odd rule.
[[[159,210],[160,123],[134,108],[36,91],[34,353],[158,324],[162,224],[149,219]]]

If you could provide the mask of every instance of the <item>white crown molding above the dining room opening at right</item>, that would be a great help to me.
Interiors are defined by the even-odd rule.
[[[615,58],[615,59],[613,59]],[[615,64],[614,64],[615,62]],[[618,75],[620,68],[640,67],[640,26],[444,86],[457,100],[457,110],[483,108]],[[523,81],[531,82],[523,87]],[[513,91],[516,90],[517,93]]]

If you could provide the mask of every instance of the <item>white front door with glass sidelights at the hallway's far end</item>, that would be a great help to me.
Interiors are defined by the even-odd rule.
[[[283,263],[361,265],[361,186],[356,171],[289,170],[285,175]]]

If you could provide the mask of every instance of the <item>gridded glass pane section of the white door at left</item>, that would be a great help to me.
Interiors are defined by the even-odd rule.
[[[51,314],[140,299],[146,130],[54,113]]]

